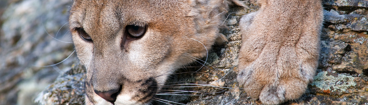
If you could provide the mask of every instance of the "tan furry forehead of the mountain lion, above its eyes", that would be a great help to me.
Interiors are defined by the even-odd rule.
[[[70,26],[93,28],[109,25],[110,28],[118,28],[128,24],[145,25],[151,20],[183,14],[183,8],[188,8],[183,4],[186,3],[181,0],[74,0]]]

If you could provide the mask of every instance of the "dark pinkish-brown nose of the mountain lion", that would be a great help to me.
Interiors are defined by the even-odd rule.
[[[115,102],[116,101],[116,97],[119,94],[119,89],[113,89],[113,90],[109,90],[109,91],[98,91],[95,90],[95,93],[97,95],[99,95],[101,98],[105,99],[106,101],[109,102]]]

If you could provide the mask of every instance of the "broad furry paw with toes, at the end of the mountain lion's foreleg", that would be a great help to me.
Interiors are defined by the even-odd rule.
[[[315,69],[303,66],[307,65],[288,68],[287,64],[258,59],[248,65],[240,64],[237,80],[252,99],[259,99],[265,105],[277,105],[304,94]]]

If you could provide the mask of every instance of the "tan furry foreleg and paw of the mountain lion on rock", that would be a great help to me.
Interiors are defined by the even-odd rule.
[[[280,104],[312,82],[320,50],[321,0],[258,0],[261,9],[240,20],[237,80],[253,99]]]

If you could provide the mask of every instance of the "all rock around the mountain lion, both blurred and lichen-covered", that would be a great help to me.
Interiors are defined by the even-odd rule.
[[[181,82],[182,85],[177,86],[197,83],[230,88],[164,88],[213,94],[178,93],[190,95],[159,95],[158,98],[189,105],[262,104],[238,89],[242,87],[235,80],[241,45],[238,19],[258,10],[255,1],[245,1],[249,9],[232,7],[228,12],[229,28],[222,33],[229,42],[225,46],[214,46],[208,64],[198,71],[203,73],[181,73],[168,80]],[[64,25],[71,3],[71,0],[0,0],[0,105],[33,105],[34,100],[43,105],[84,103],[85,70],[78,65],[75,54],[57,66],[39,67],[63,61],[74,51],[71,43],[62,42],[71,42],[68,26]],[[315,81],[300,99],[284,104],[368,105],[368,1],[323,0],[323,6],[325,23]],[[155,101],[154,104],[164,103]]]

